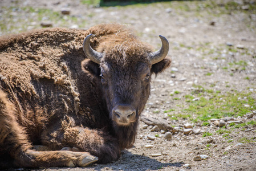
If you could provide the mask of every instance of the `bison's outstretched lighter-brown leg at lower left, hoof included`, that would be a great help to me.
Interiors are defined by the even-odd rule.
[[[97,158],[86,152],[31,150],[18,112],[0,90],[0,169],[10,167],[86,166]]]

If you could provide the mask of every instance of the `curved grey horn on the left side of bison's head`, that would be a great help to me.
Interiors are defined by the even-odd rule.
[[[83,50],[87,58],[91,59],[93,62],[100,64],[100,59],[103,57],[103,53],[97,52],[90,46],[90,39],[92,34],[89,34],[84,39]]]

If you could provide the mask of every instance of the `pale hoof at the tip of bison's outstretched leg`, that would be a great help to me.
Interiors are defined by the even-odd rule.
[[[92,156],[90,153],[87,152],[69,152],[66,151],[67,153],[72,153],[75,158],[72,161],[67,162],[68,167],[85,167],[87,165],[90,165],[93,162],[98,161],[98,158],[95,156]]]

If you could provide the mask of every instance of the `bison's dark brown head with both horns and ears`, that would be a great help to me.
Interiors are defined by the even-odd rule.
[[[96,51],[90,46],[91,37],[92,34],[84,39],[83,50],[88,59],[82,66],[99,78],[113,125],[117,129],[137,127],[149,97],[151,75],[170,65],[170,59],[165,59],[168,40],[160,36],[162,47],[152,52],[134,37],[101,38],[105,41],[99,43]]]

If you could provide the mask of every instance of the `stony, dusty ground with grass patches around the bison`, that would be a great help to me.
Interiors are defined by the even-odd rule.
[[[32,170],[256,170],[256,2],[171,1],[98,7],[92,1],[9,1],[0,5],[0,35],[43,23],[89,28],[131,25],[156,49],[170,43],[172,65],[152,80],[144,116],[164,119],[178,132],[164,139],[140,122],[133,148],[110,164]],[[63,8],[70,14],[63,15]],[[251,118],[246,113],[253,113]],[[232,117],[218,127],[210,119]],[[189,123],[198,134],[184,135]],[[174,131],[171,131],[174,132]],[[155,136],[149,140],[148,135]],[[153,145],[145,148],[145,145]],[[153,157],[152,154],[159,154]],[[199,155],[208,158],[194,161]]]

